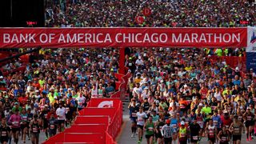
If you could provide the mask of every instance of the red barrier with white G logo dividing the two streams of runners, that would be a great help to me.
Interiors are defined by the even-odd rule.
[[[45,144],[95,143],[116,144],[122,126],[122,97],[126,93],[130,74],[115,74],[120,85],[118,91],[110,98],[91,98],[86,108],[78,112],[74,124],[49,138]]]

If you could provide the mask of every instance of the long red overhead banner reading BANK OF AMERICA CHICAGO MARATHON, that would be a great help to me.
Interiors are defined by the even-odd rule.
[[[0,48],[246,47],[247,28],[0,28]]]

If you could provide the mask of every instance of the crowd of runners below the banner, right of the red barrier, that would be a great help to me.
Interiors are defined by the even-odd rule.
[[[253,141],[255,74],[210,61],[206,50],[134,49],[126,66],[131,137],[147,143]]]

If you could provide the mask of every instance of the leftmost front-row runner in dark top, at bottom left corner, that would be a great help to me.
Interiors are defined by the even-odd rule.
[[[7,144],[10,137],[10,127],[6,124],[6,118],[2,118],[0,125],[0,142],[2,144]]]

